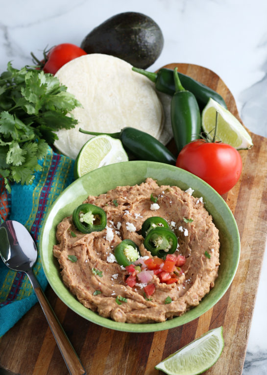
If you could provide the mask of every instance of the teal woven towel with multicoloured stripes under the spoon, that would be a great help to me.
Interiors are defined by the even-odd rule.
[[[48,281],[40,259],[40,233],[51,204],[74,180],[74,161],[48,147],[41,165],[42,170],[36,172],[32,185],[13,184],[10,194],[0,178],[0,216],[1,222],[6,219],[19,221],[32,235],[38,249],[33,272],[44,290]],[[36,302],[26,274],[10,270],[0,258],[0,337]]]

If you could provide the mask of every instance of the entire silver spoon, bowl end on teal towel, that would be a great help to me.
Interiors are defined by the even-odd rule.
[[[0,256],[7,267],[27,274],[70,374],[86,375],[70,340],[32,272],[37,259],[37,249],[29,232],[18,221],[6,220],[0,225]]]

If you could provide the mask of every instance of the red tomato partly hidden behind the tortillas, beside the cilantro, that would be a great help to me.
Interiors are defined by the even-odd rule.
[[[59,44],[48,52],[48,61],[43,70],[45,73],[55,74],[64,64],[87,53],[71,43]]]

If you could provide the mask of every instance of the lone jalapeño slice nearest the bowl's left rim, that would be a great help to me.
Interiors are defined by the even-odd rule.
[[[73,223],[82,233],[100,232],[107,225],[107,215],[100,207],[84,203],[73,211]]]

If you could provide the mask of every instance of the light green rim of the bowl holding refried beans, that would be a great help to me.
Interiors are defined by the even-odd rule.
[[[127,165],[125,165],[125,164],[127,164]],[[154,167],[154,168],[161,168],[161,169],[165,168],[170,173],[172,171],[177,172],[182,176],[188,177],[189,180],[196,181],[197,184],[200,184],[200,185],[198,185],[198,187],[202,186],[202,187],[205,187],[205,189],[209,190],[210,193],[212,194],[213,199],[218,200],[218,202],[220,202],[221,206],[224,208],[225,212],[227,212],[228,219],[231,221],[231,225],[232,225],[231,230],[232,230],[233,234],[235,234],[235,237],[233,238],[233,240],[235,241],[234,243],[235,243],[235,252],[236,252],[235,263],[233,265],[232,272],[229,275],[229,278],[228,278],[227,282],[225,283],[224,288],[220,291],[220,293],[218,293],[217,297],[214,298],[213,303],[211,305],[208,305],[208,308],[205,308],[206,304],[204,303],[204,301],[205,301],[205,298],[211,293],[212,290],[206,296],[203,297],[203,299],[200,301],[199,305],[197,305],[197,306],[191,308],[190,310],[186,311],[181,316],[177,316],[177,317],[174,317],[172,319],[168,319],[165,322],[159,322],[159,323],[158,322],[155,322],[155,323],[121,323],[121,322],[115,322],[115,321],[111,320],[110,318],[104,318],[104,317],[100,316],[98,313],[93,312],[92,310],[83,306],[77,300],[77,298],[70,292],[70,290],[64,285],[64,283],[61,279],[61,276],[59,274],[59,271],[58,271],[58,274],[59,274],[58,277],[59,277],[61,283],[64,285],[64,289],[66,289],[68,295],[71,295],[79,305],[84,307],[84,309],[82,308],[81,311],[77,311],[77,309],[73,308],[73,305],[68,301],[68,299],[65,296],[65,293],[62,296],[59,293],[59,291],[57,290],[57,287],[56,287],[55,283],[53,282],[51,276],[49,275],[49,268],[46,264],[46,258],[45,258],[45,255],[47,255],[47,253],[45,252],[45,250],[43,248],[46,228],[47,228],[47,225],[49,223],[49,220],[51,219],[50,216],[53,213],[53,210],[55,210],[55,207],[58,205],[58,203],[63,199],[62,197],[64,197],[64,195],[67,192],[69,192],[73,188],[75,188],[75,186],[77,184],[85,182],[86,180],[88,180],[89,176],[91,177],[93,175],[93,177],[94,177],[94,174],[96,174],[96,175],[99,174],[100,170],[101,170],[101,172],[106,172],[109,169],[112,170],[112,169],[116,168],[116,166],[118,167],[118,165],[119,165],[120,169],[123,169],[123,168],[128,169],[128,168],[134,168],[134,167],[140,168],[141,165],[145,165],[146,167]],[[147,177],[149,177],[149,176],[144,177],[143,181],[145,181]],[[165,179],[166,178],[168,178],[168,177],[165,177]],[[157,178],[153,178],[153,179],[157,180]],[[140,184],[140,183],[138,183],[138,184]],[[118,184],[118,186],[119,185],[120,184]],[[129,185],[133,186],[135,184],[129,184]],[[159,185],[163,185],[163,184],[159,184]],[[173,184],[173,185],[175,185],[175,184]],[[188,184],[185,183],[185,185],[188,185]],[[178,186],[178,185],[176,185],[176,186]],[[87,194],[89,195],[89,192]],[[205,202],[205,206],[206,206],[206,202]],[[207,210],[207,211],[209,212],[209,210]],[[53,220],[54,220],[54,218],[52,219],[52,221]],[[138,333],[138,332],[156,332],[156,331],[160,331],[160,330],[175,328],[175,327],[181,326],[183,324],[189,323],[189,322],[193,321],[194,319],[198,318],[199,316],[201,316],[202,314],[204,314],[206,311],[208,311],[210,308],[212,308],[214,305],[216,305],[218,303],[218,301],[223,297],[223,295],[226,293],[226,291],[230,287],[230,285],[231,285],[231,283],[232,283],[232,281],[235,277],[238,265],[239,265],[239,260],[240,260],[240,235],[239,235],[238,226],[237,226],[236,220],[234,218],[234,215],[233,215],[232,211],[230,210],[230,208],[228,207],[228,205],[226,204],[226,202],[224,201],[224,199],[217,193],[216,190],[214,190],[210,185],[208,185],[205,181],[201,180],[199,177],[193,175],[192,173],[190,173],[190,172],[188,172],[184,169],[178,168],[178,167],[176,167],[174,165],[170,165],[170,164],[163,164],[163,163],[150,162],[150,161],[127,161],[127,162],[109,164],[109,165],[105,165],[105,166],[102,166],[100,168],[97,168],[97,169],[87,173],[86,175],[80,177],[79,179],[73,181],[72,184],[70,184],[67,188],[65,188],[59,194],[59,196],[55,199],[55,201],[53,202],[53,204],[49,208],[49,211],[47,212],[47,214],[44,218],[42,230],[41,230],[41,234],[40,234],[39,250],[40,250],[42,266],[43,266],[43,269],[44,269],[45,276],[47,277],[47,280],[49,282],[49,285],[54,290],[56,295],[61,299],[61,301],[63,301],[64,304],[67,305],[70,309],[72,309],[75,313],[82,316],[86,320],[88,320],[92,323],[95,323],[95,324],[97,324],[101,327],[105,327],[105,328],[110,328],[110,329],[124,331],[124,332],[136,332],[136,333]],[[59,269],[59,266],[58,266],[58,269]],[[215,285],[216,285],[216,281],[215,281]],[[72,298],[72,300],[73,300],[73,298]],[[199,308],[198,309],[199,311],[195,314],[194,313],[195,308],[200,306],[200,305],[202,305],[203,308]]]

